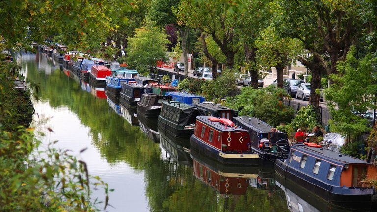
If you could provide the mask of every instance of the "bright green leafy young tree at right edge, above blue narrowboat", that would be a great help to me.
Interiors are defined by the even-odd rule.
[[[368,121],[361,115],[376,108],[377,100],[376,57],[372,53],[360,59],[355,56],[356,48],[351,47],[346,60],[338,62],[338,73],[330,75],[332,86],[325,90],[331,131],[349,140],[368,130]]]

